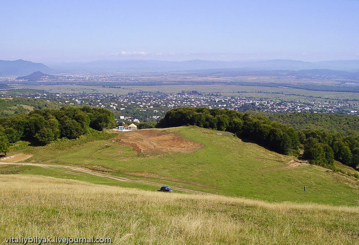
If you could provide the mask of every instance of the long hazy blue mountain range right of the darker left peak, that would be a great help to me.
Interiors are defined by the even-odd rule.
[[[154,60],[101,60],[92,62],[52,63],[59,72],[119,72],[119,71],[184,71],[203,69],[239,70],[310,70],[330,69],[359,71],[359,60],[303,62],[293,60],[269,61],[154,61]]]

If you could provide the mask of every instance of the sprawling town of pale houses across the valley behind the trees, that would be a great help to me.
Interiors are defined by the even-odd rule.
[[[57,95],[56,95],[57,96]],[[45,94],[43,97],[47,97]],[[40,97],[38,97],[40,98]],[[134,93],[128,95],[68,95],[61,94],[56,97],[57,100],[64,101],[63,103],[84,104],[102,108],[109,108],[116,111],[121,111],[121,120],[133,120],[130,112],[138,110],[139,115],[146,118],[158,119],[163,117],[166,110],[170,108],[189,106],[189,107],[208,107],[208,108],[227,108],[237,110],[246,105],[254,105],[258,110],[265,112],[325,112],[325,113],[346,113],[358,115],[359,104],[351,101],[330,100],[321,101],[297,101],[297,102],[283,102],[271,101],[263,99],[244,98],[236,96],[221,96],[221,95],[189,95],[189,94],[166,94],[166,93]],[[126,115],[126,116],[125,116]],[[137,115],[138,117],[138,115]],[[141,119],[141,118],[140,118]],[[138,119],[134,119],[136,122]]]

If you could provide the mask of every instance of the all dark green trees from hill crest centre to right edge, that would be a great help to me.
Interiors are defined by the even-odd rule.
[[[295,116],[300,117],[300,115]],[[341,118],[340,116],[334,115],[333,118]],[[322,122],[325,119],[318,118],[318,122],[325,124],[325,121]],[[356,118],[343,117],[342,120],[355,121]],[[314,129],[295,130],[293,127],[271,121],[266,117],[251,116],[234,110],[189,107],[167,111],[157,127],[183,125],[229,131],[237,137],[287,155],[298,156],[298,147],[301,144],[304,147],[304,159],[312,164],[329,168],[334,168],[334,159],[353,168],[359,166],[359,136],[355,135],[343,136]],[[348,128],[352,129],[350,126]]]

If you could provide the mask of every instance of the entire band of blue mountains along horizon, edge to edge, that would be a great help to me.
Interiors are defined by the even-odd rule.
[[[235,69],[235,71],[270,71],[270,70],[328,70],[359,72],[359,60],[303,62],[293,60],[268,61],[155,61],[155,60],[101,60],[92,62],[42,63],[30,61],[1,61],[0,76],[23,76],[35,71],[43,73],[103,73],[121,71],[190,71],[209,69]]]

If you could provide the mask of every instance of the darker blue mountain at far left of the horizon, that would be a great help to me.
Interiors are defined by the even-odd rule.
[[[31,61],[24,60],[0,60],[0,76],[22,76],[30,74],[34,71],[42,71],[45,73],[52,72],[52,70],[48,66],[42,63],[33,63]]]

